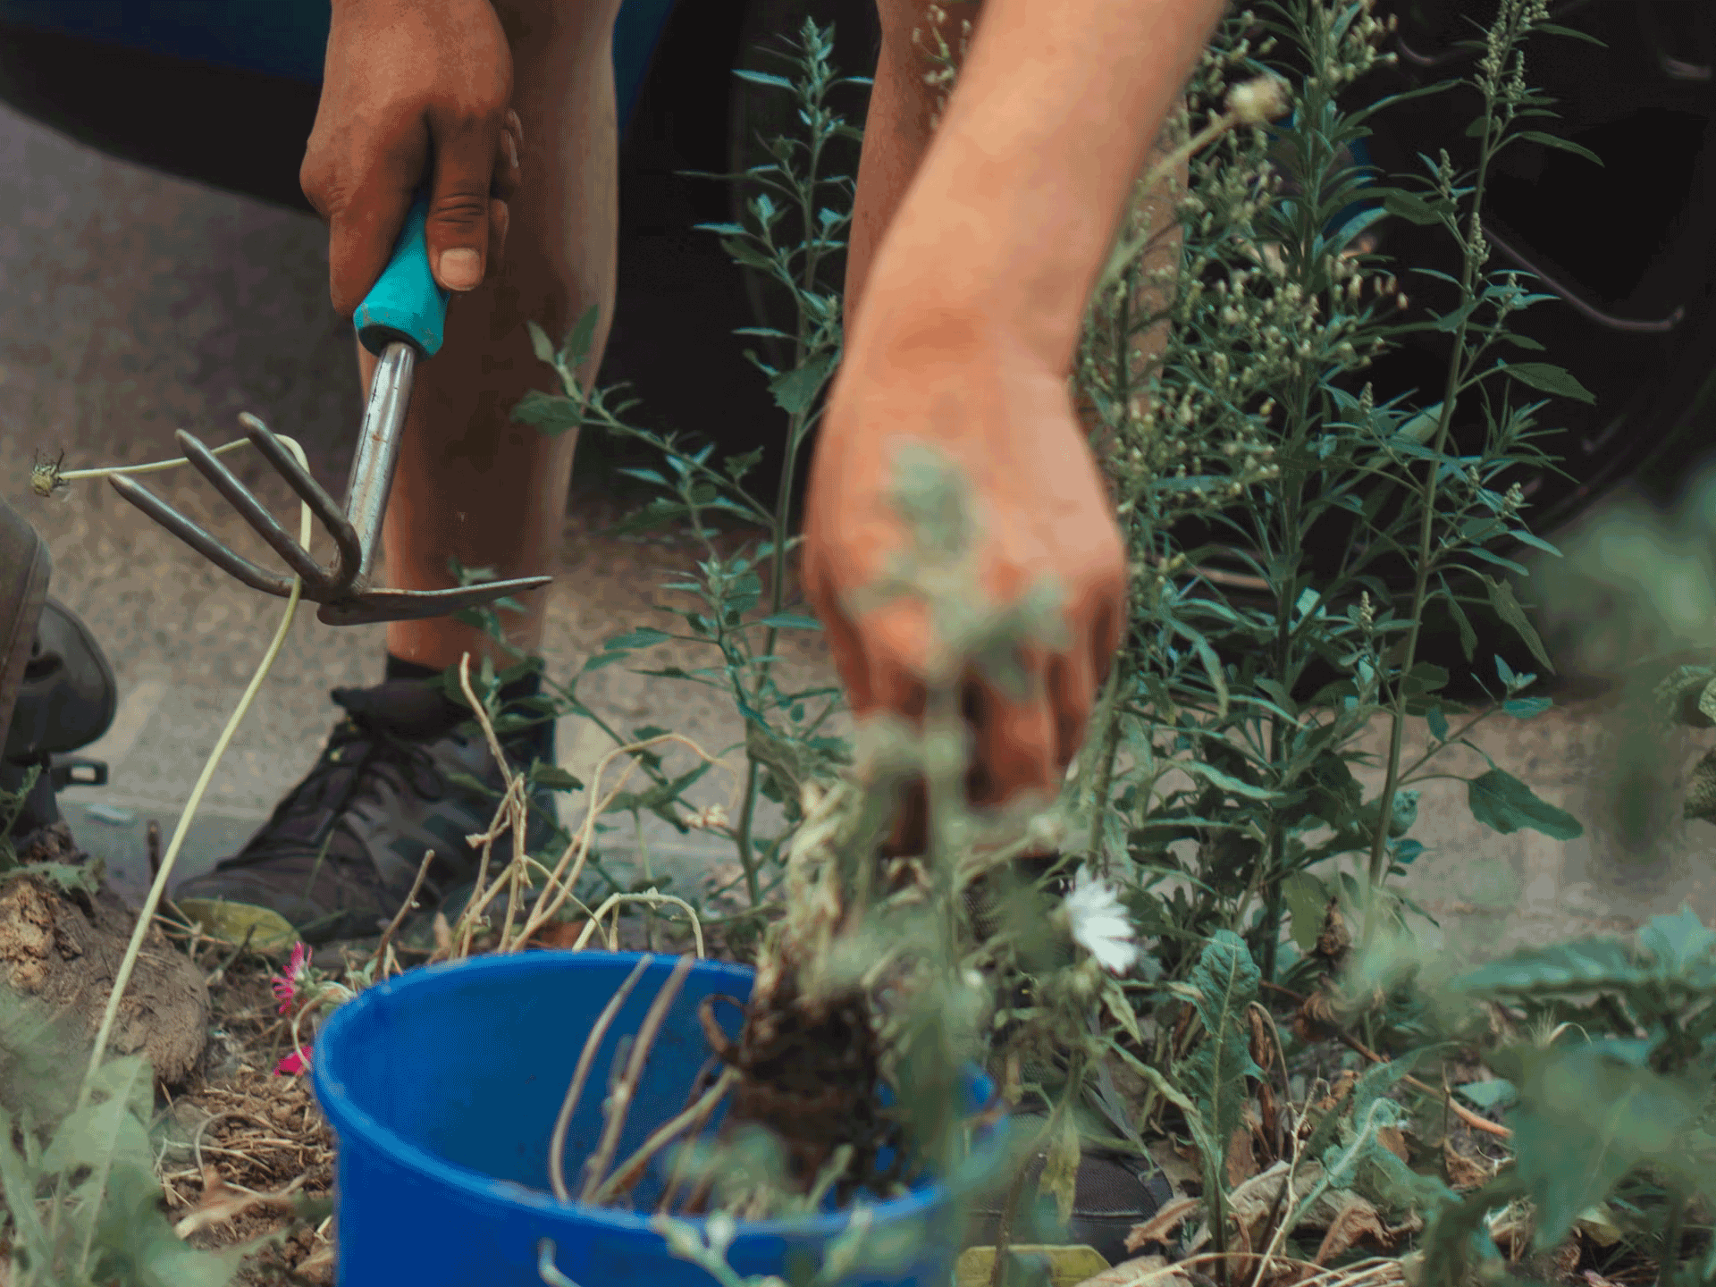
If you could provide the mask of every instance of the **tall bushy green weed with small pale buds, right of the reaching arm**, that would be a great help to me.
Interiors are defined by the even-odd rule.
[[[1582,391],[1558,367],[1498,355],[1534,343],[1508,319],[1544,297],[1522,275],[1486,269],[1474,213],[1493,158],[1538,137],[1522,124],[1548,115],[1515,50],[1553,29],[1539,9],[1510,0],[1481,43],[1474,170],[1457,173],[1443,153],[1424,177],[1399,180],[1409,185],[1385,185],[1354,161],[1368,122],[1402,98],[1344,98],[1388,57],[1375,48],[1387,24],[1369,3],[1292,0],[1230,17],[1170,141],[1239,115],[1239,76],[1278,77],[1292,117],[1218,136],[1191,161],[1170,227],[1143,220],[1141,192],[1141,216],[1093,300],[1078,388],[1110,443],[1138,577],[1133,633],[1079,770],[1079,810],[1090,860],[1133,879],[1131,906],[1162,935],[1169,975],[1184,975],[1199,944],[1229,928],[1275,980],[1284,925],[1308,951],[1332,899],[1366,934],[1399,920],[1409,906],[1381,891],[1423,851],[1409,836],[1412,788],[1445,776],[1435,762],[1448,746],[1483,753],[1472,734],[1495,714],[1548,707],[1526,695],[1534,676],[1496,659],[1496,700],[1465,710],[1440,695],[1447,671],[1417,657],[1431,607],[1460,623],[1476,657],[1476,597],[1548,666],[1500,575],[1522,571],[1510,546],[1543,546],[1510,477],[1550,465],[1544,400],[1519,403],[1512,391]],[[1450,312],[1411,319],[1397,269],[1369,249],[1388,218],[1453,239]],[[1151,244],[1170,237],[1179,252],[1151,259]],[[1162,326],[1160,353],[1141,359]],[[1426,333],[1450,343],[1440,400],[1378,403],[1361,383],[1366,367]],[[1481,441],[1455,436],[1474,420]],[[1330,534],[1344,547],[1333,565],[1316,554]],[[1392,733],[1381,789],[1366,798],[1356,743],[1378,716]],[[1429,733],[1419,755],[1405,750],[1411,716]],[[1467,791],[1474,817],[1500,831],[1579,834],[1493,762]]]

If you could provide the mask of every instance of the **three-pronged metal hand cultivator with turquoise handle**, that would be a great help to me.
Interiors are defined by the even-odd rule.
[[[369,405],[364,408],[364,429],[357,444],[357,458],[352,462],[345,510],[335,506],[333,498],[261,420],[251,420],[245,427],[256,450],[268,458],[292,491],[311,508],[311,513],[328,529],[336,553],[333,566],[317,563],[214,453],[184,429],[178,431],[177,438],[185,458],[214,484],[221,496],[237,506],[245,522],[287,561],[287,566],[292,568],[290,575],[257,566],[139,482],[118,474],[110,479],[120,496],[251,589],[283,599],[292,594],[292,578],[300,578],[304,597],[321,604],[316,616],[331,626],[446,616],[462,607],[494,602],[508,594],[534,590],[553,580],[551,577],[515,577],[448,590],[371,587],[376,546],[381,537],[381,517],[388,508],[393,467],[400,453],[400,431],[405,426],[405,412],[412,396],[412,374],[419,360],[434,357],[441,348],[441,329],[446,323],[446,293],[429,273],[429,249],[424,240],[427,209],[429,197],[424,190],[419,192],[405,216],[405,227],[400,230],[386,269],[352,316],[364,347],[379,360],[376,362],[376,378],[369,386]]]

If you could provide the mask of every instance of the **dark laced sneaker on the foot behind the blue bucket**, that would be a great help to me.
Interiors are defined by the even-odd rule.
[[[434,680],[335,688],[347,710],[314,767],[235,856],[173,889],[178,903],[225,899],[278,911],[309,942],[376,934],[400,909],[426,851],[420,909],[475,879],[479,851],[505,789],[482,729]],[[544,733],[542,729],[547,729]],[[553,762],[553,724],[501,743],[515,770]],[[462,781],[463,779],[463,781]],[[480,782],[487,789],[477,789]],[[554,837],[554,803],[530,795],[527,848]],[[511,839],[492,863],[511,856]]]

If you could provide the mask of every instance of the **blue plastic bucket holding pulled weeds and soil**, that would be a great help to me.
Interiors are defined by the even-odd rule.
[[[709,1287],[712,1278],[674,1258],[649,1227],[659,1174],[638,1186],[637,1215],[561,1203],[547,1184],[549,1133],[571,1069],[637,961],[631,952],[525,952],[431,966],[362,992],[328,1019],[316,1038],[314,1081],[340,1141],[341,1287],[541,1287],[544,1239],[554,1268],[580,1287]],[[618,1042],[638,1030],[671,968],[671,958],[657,958],[607,1030],[566,1139],[573,1184],[602,1127]],[[717,961],[686,975],[616,1157],[685,1105],[709,1054],[698,1002],[710,994],[743,1000],[752,976]],[[716,1012],[731,1033],[738,1014]],[[968,1093],[976,1107],[988,1086],[973,1076]],[[908,1263],[846,1282],[942,1287],[959,1246],[954,1220],[940,1184],[879,1203],[873,1229],[916,1246]],[[741,1275],[784,1273],[800,1253],[820,1263],[820,1249],[844,1227],[843,1213],[743,1224],[728,1260]]]

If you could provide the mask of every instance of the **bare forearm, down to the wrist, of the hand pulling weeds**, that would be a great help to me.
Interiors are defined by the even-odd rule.
[[[964,317],[1066,371],[1126,197],[1224,9],[983,0],[851,347],[911,347]]]

